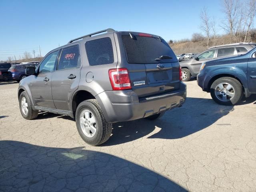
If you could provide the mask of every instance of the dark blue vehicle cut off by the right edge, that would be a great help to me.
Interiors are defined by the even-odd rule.
[[[256,48],[238,56],[202,63],[197,83],[222,105],[234,105],[243,95],[256,94]]]

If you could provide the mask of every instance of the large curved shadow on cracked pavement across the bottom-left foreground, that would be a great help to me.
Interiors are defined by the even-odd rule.
[[[173,181],[116,156],[78,148],[0,141],[0,191],[186,191]]]

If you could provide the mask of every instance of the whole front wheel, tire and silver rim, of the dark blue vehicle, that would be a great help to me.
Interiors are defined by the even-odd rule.
[[[212,99],[221,105],[235,105],[243,96],[241,83],[231,77],[222,77],[215,80],[210,92]]]

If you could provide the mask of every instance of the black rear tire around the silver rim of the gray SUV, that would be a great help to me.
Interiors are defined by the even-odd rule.
[[[96,120],[96,133],[92,137],[86,136],[80,126],[80,115],[84,110],[89,110]],[[90,99],[81,102],[76,109],[76,127],[81,138],[92,146],[100,145],[106,142],[112,132],[112,124],[106,122],[103,112],[96,99]]]

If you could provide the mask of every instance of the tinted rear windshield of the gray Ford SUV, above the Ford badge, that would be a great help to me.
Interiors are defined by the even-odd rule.
[[[123,35],[122,38],[128,63],[177,62],[174,52],[164,40],[160,41],[159,38],[145,36],[134,36],[132,39],[130,35]],[[172,59],[155,60],[162,55],[171,56]]]

